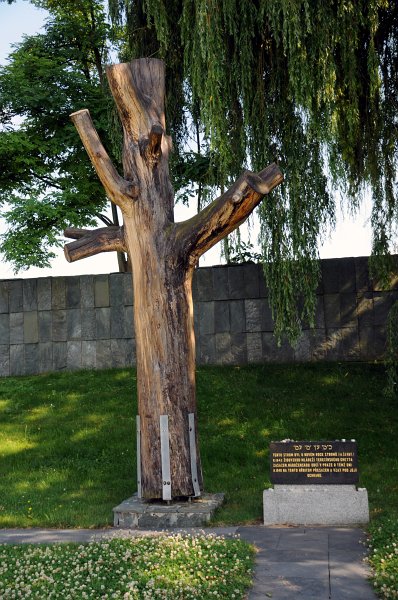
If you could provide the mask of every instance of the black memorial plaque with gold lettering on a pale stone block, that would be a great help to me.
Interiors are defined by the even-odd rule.
[[[277,484],[356,484],[357,443],[271,442],[270,470]]]

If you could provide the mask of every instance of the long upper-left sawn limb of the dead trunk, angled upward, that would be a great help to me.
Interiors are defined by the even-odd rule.
[[[138,197],[138,186],[123,179],[116,171],[108,153],[102,145],[89,111],[86,109],[79,110],[72,113],[70,117],[107,195],[121,210],[128,211],[131,200],[135,200]]]

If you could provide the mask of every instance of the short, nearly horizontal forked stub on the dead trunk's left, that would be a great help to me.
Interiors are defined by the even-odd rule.
[[[64,235],[76,240],[64,246],[68,262],[94,256],[100,252],[127,252],[123,227],[100,227],[93,230],[69,227],[65,229]]]

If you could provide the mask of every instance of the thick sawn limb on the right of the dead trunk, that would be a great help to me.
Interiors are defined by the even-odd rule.
[[[245,171],[236,183],[192,219],[176,225],[182,253],[195,263],[199,257],[239,227],[268,194],[283,181],[273,163],[260,173]]]

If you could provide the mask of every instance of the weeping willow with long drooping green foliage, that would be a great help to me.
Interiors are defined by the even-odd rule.
[[[355,210],[370,189],[373,254],[392,249],[396,0],[109,0],[109,10],[126,27],[122,59],[166,60],[177,159],[190,113],[207,158],[204,184],[228,187],[242,167],[273,161],[285,173],[258,210],[276,329],[294,338],[313,314],[314,259],[334,223],[336,191]]]

